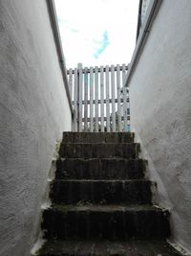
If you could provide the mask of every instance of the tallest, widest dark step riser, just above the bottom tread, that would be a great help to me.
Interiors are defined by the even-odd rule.
[[[170,234],[169,213],[158,207],[54,205],[43,212],[45,239],[156,239]]]

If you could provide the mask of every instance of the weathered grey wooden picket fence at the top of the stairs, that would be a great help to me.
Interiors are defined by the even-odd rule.
[[[112,65],[67,71],[74,105],[74,131],[128,131],[128,66]]]

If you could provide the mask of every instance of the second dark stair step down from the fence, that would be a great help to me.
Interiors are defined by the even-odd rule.
[[[59,155],[68,158],[138,158],[138,143],[61,144]]]

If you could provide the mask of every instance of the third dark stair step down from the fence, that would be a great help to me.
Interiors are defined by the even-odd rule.
[[[75,179],[130,179],[142,178],[146,161],[118,158],[59,158],[56,161],[55,178]]]

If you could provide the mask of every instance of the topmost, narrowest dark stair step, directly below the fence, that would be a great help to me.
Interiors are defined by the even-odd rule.
[[[63,132],[63,143],[132,143],[132,132]]]

